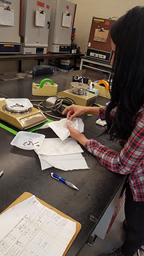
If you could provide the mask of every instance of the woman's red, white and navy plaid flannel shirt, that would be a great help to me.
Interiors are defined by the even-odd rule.
[[[99,108],[104,119],[106,107]],[[111,111],[115,116],[116,109]],[[86,149],[97,157],[100,164],[112,172],[129,174],[128,180],[134,201],[144,201],[144,104],[138,111],[136,126],[120,152],[115,152],[96,140],[88,140]]]

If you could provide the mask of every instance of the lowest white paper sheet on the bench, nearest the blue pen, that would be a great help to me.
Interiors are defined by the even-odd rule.
[[[81,153],[68,154],[63,156],[45,156],[39,155],[42,170],[51,166],[63,171],[89,169]]]

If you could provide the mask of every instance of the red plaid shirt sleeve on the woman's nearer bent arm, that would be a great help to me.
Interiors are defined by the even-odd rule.
[[[144,159],[144,115],[132,131],[121,152],[104,147],[96,140],[88,140],[86,149],[97,157],[100,164],[112,172],[127,175],[138,168]]]

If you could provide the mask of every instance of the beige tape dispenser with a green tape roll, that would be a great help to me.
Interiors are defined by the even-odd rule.
[[[40,84],[33,83],[32,95],[36,96],[53,96],[57,95],[58,84],[55,84],[51,79],[45,78]]]

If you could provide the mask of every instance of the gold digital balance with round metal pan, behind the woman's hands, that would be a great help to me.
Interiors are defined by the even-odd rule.
[[[72,82],[70,83],[70,89],[58,92],[59,97],[68,97],[77,105],[90,106],[95,103],[97,94],[89,92],[90,86],[88,84]]]

